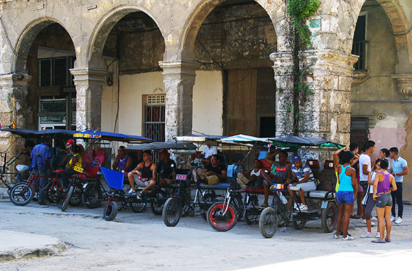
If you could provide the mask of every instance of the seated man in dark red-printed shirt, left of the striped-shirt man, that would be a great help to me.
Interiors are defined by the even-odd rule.
[[[273,158],[279,154],[279,161],[273,161]],[[263,189],[264,189],[264,202],[260,206],[261,209],[265,209],[268,207],[268,198],[269,198],[269,188],[273,185],[273,183],[285,183],[290,181],[292,178],[292,170],[290,164],[288,163],[288,152],[286,150],[277,149],[273,154],[271,154],[271,150],[268,150],[268,156],[264,158],[264,160],[271,165],[271,180],[264,180],[263,181]]]

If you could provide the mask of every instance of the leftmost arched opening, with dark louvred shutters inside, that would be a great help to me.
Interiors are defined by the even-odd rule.
[[[16,70],[32,76],[25,97],[27,128],[76,129],[76,89],[69,71],[75,60],[73,41],[59,23],[43,21],[23,36]]]

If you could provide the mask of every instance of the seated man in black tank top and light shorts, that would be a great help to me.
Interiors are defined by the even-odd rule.
[[[128,194],[136,195],[138,200],[141,200],[141,195],[144,192],[156,185],[157,167],[156,164],[150,160],[150,156],[152,156],[152,152],[145,150],[143,152],[143,162],[139,163],[135,169],[128,173],[130,183]],[[136,193],[135,183],[138,187],[144,187],[144,189]]]

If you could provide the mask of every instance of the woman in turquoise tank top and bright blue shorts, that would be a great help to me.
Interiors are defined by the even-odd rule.
[[[354,209],[354,191],[356,185],[356,171],[350,165],[354,159],[353,152],[345,152],[342,157],[342,165],[339,165],[339,161],[334,158],[334,167],[338,168],[338,182],[339,191],[336,193],[336,202],[338,202],[338,220],[336,222],[336,233],[334,237],[336,239],[341,236],[339,233],[342,231],[343,240],[353,240],[354,238],[347,235],[347,228],[349,228],[350,214]]]

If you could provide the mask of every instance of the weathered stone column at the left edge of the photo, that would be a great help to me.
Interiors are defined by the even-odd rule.
[[[0,76],[0,123],[2,127],[9,126],[12,121],[16,123],[16,128],[26,128],[26,117],[33,114],[27,111],[26,96],[29,82],[32,76],[27,74],[8,74]],[[28,119],[32,119],[28,117]],[[30,124],[31,121],[29,121]],[[9,132],[0,132],[0,150],[6,150],[14,137]],[[24,141],[20,142],[22,145]],[[17,154],[23,147],[19,143],[12,145],[8,151],[8,156]],[[14,168],[14,167],[13,167]]]

